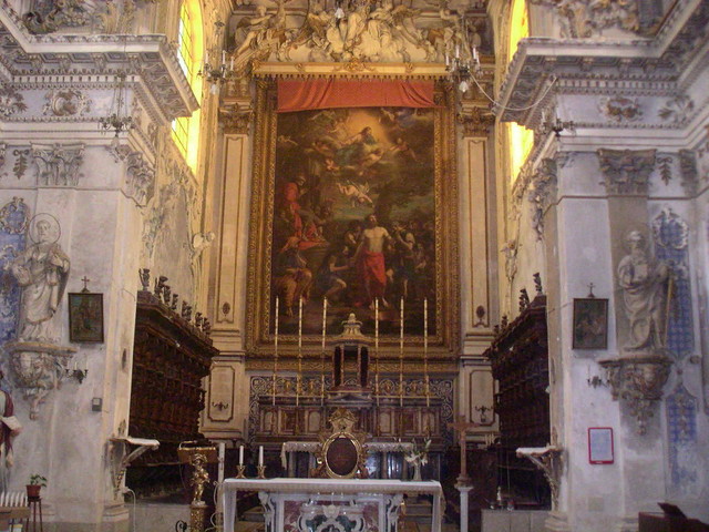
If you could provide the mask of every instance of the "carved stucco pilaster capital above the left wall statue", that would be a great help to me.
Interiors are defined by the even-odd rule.
[[[32,144],[32,161],[39,185],[76,186],[83,176],[84,144]]]

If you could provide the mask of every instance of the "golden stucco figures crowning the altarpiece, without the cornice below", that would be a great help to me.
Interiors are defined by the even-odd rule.
[[[269,12],[257,6],[255,13],[242,17],[236,24],[234,41],[235,70],[245,71],[249,63],[266,61],[338,62],[412,62],[443,61],[460,54],[471,60],[470,45],[484,47],[487,39],[486,19],[479,17],[470,23],[460,13],[440,3],[438,13],[427,17],[435,23],[419,25],[421,9],[398,4],[391,0],[372,4],[350,2],[349,9],[326,9],[320,1],[310,2],[300,24],[286,12],[286,1]],[[297,19],[295,19],[297,20]]]

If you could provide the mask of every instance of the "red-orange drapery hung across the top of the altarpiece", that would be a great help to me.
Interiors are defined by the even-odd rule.
[[[419,80],[280,80],[278,112],[332,108],[434,108],[433,82]]]

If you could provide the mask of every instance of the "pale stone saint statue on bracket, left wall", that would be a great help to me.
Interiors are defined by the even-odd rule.
[[[61,229],[49,214],[30,222],[32,245],[10,263],[10,272],[22,287],[20,304],[21,341],[54,344],[52,318],[66,287],[70,260],[58,244]]]

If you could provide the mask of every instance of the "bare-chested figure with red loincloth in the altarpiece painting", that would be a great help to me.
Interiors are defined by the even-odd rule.
[[[367,228],[362,231],[356,256],[357,270],[366,291],[366,300],[360,303],[373,305],[373,300],[379,298],[383,306],[389,306],[384,299],[384,288],[387,288],[384,244],[391,239],[389,232],[377,225],[377,216],[373,214],[367,216]]]

